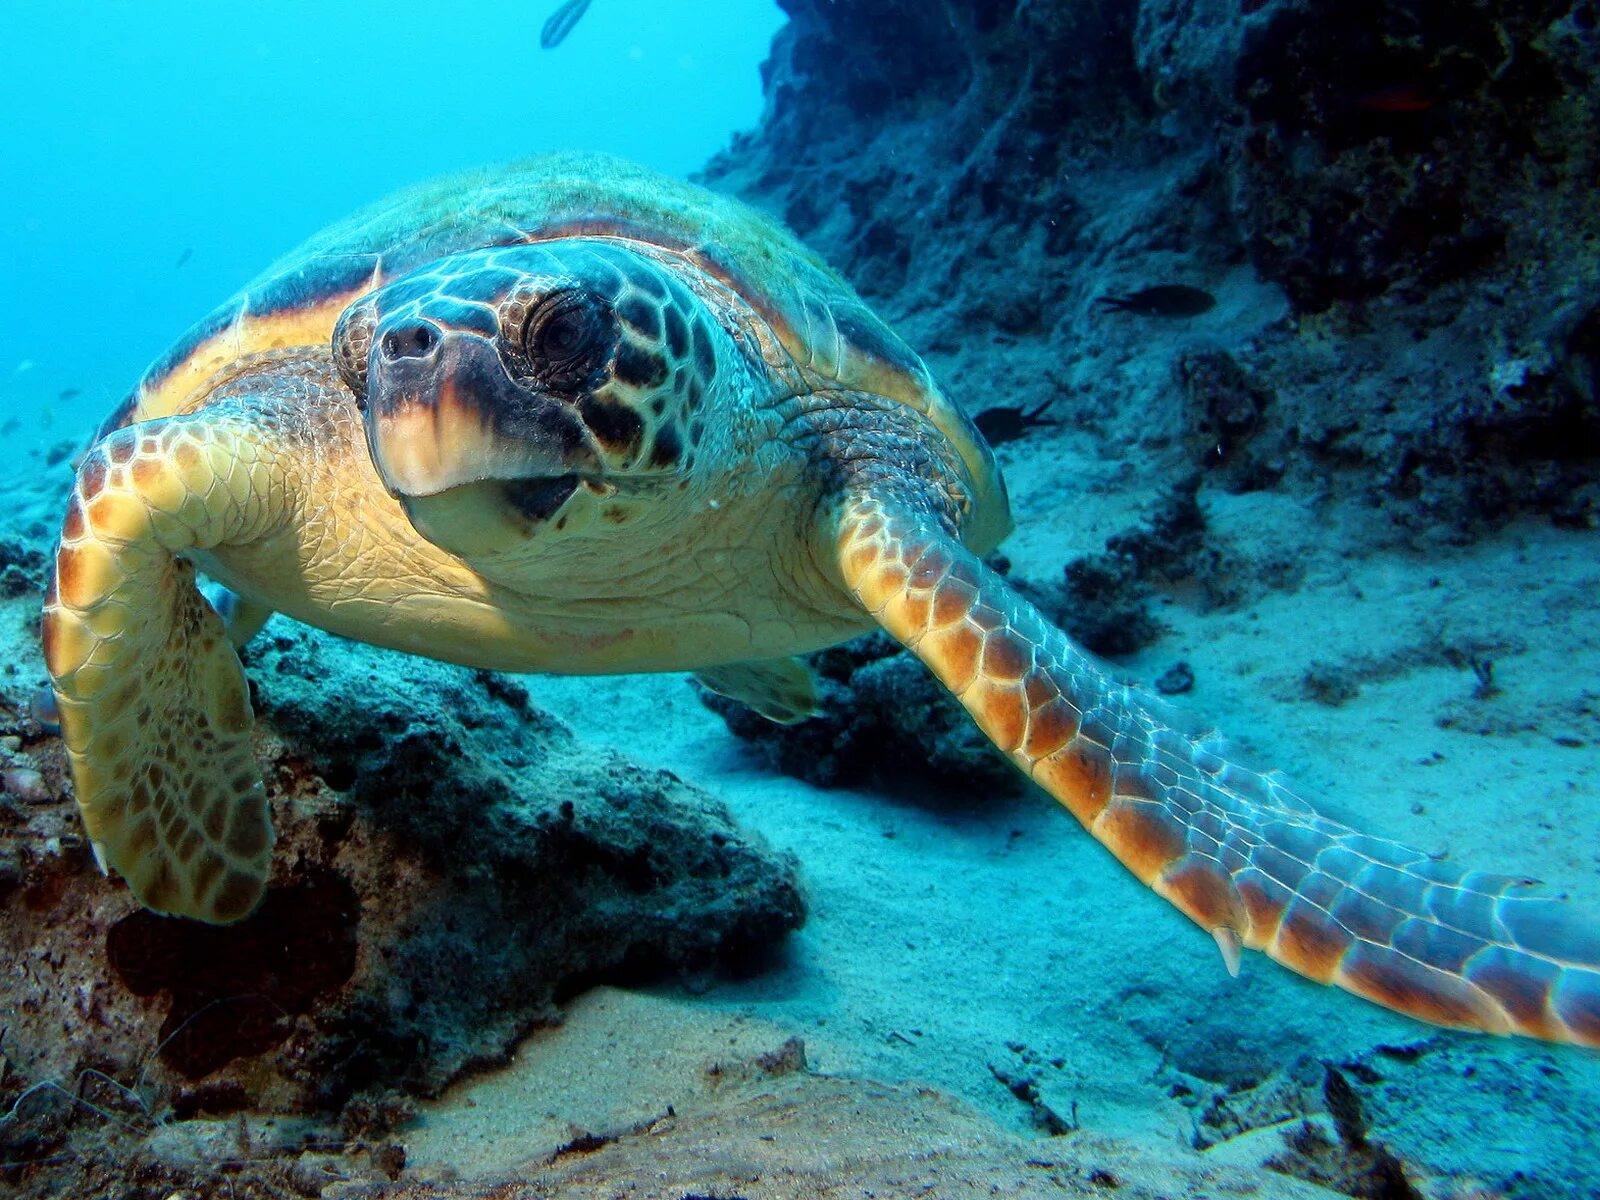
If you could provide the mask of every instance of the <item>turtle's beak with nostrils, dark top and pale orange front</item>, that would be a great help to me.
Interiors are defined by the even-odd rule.
[[[453,554],[526,538],[600,470],[576,411],[518,386],[480,333],[386,323],[366,379],[373,464],[418,533]]]

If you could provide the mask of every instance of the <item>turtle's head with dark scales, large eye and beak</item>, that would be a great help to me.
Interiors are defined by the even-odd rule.
[[[693,466],[714,322],[661,264],[603,242],[454,254],[354,304],[333,357],[384,486],[464,558],[621,526]]]

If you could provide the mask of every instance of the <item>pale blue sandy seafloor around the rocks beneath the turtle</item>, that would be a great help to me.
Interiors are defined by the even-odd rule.
[[[45,442],[70,432],[58,422]],[[1051,434],[1002,458],[1021,576],[1054,574],[1136,517],[1117,464],[1082,438]],[[46,478],[64,483],[37,450],[21,459],[0,533],[53,522]],[[1600,912],[1600,533],[1525,522],[1426,557],[1341,560],[1323,549],[1338,542],[1326,514],[1290,494],[1203,498],[1213,538],[1288,554],[1304,582],[1227,613],[1171,597],[1170,632],[1131,674],[1186,659],[1197,683],[1181,704],[1306,795]],[[19,682],[42,680],[27,630],[0,632]],[[1462,642],[1494,648],[1498,694],[1475,699],[1472,672],[1438,653]],[[1354,672],[1358,694],[1309,699],[1312,662]],[[1210,938],[1040,792],[952,806],[821,790],[774,774],[685,677],[530,685],[582,738],[702,784],[792,850],[811,914],[755,979],[579,997],[510,1067],[422,1107],[403,1134],[410,1178],[501,1173],[574,1130],[693,1107],[709,1066],[798,1035],[813,1070],[928,1083],[1042,1136],[997,1078],[1027,1075],[1078,1125],[1064,1138],[1162,1155],[1200,1154],[1187,1147],[1210,1091],[1309,1056],[1360,1072],[1373,1136],[1430,1195],[1600,1194],[1594,1051],[1434,1030],[1259,955],[1230,979]],[[1259,1162],[1278,1149],[1280,1131],[1262,1130],[1205,1154]]]

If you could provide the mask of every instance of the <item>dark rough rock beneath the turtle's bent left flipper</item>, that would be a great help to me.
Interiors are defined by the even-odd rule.
[[[3,698],[0,1114],[46,1080],[142,1122],[403,1112],[579,987],[750,970],[802,920],[790,861],[517,683],[304,629],[248,658],[277,874],[229,928],[139,910],[94,869],[59,739]],[[0,1162],[104,1120],[51,1096],[0,1122]]]

